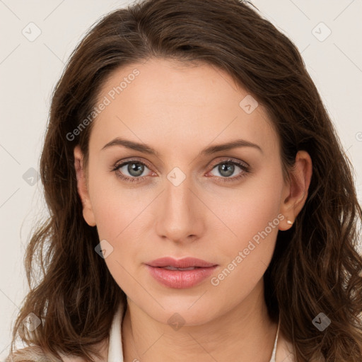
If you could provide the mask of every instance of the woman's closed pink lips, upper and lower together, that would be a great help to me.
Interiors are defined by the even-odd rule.
[[[162,257],[146,263],[146,267],[156,281],[169,288],[185,289],[200,284],[204,279],[213,274],[218,264],[206,262],[194,257],[173,259]],[[191,270],[170,270],[165,267],[191,268]]]

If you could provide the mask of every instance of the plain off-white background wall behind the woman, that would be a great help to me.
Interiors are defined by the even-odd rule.
[[[38,218],[47,216],[36,175],[50,95],[86,30],[127,4],[131,2],[0,0],[0,361],[8,354],[13,322],[28,291],[25,245]],[[354,165],[361,202],[362,2],[255,0],[252,4],[302,53]]]

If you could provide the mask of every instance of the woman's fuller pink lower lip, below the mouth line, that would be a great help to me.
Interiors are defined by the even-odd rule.
[[[169,288],[192,288],[213,274],[217,266],[192,270],[168,270],[146,265],[153,278]]]

